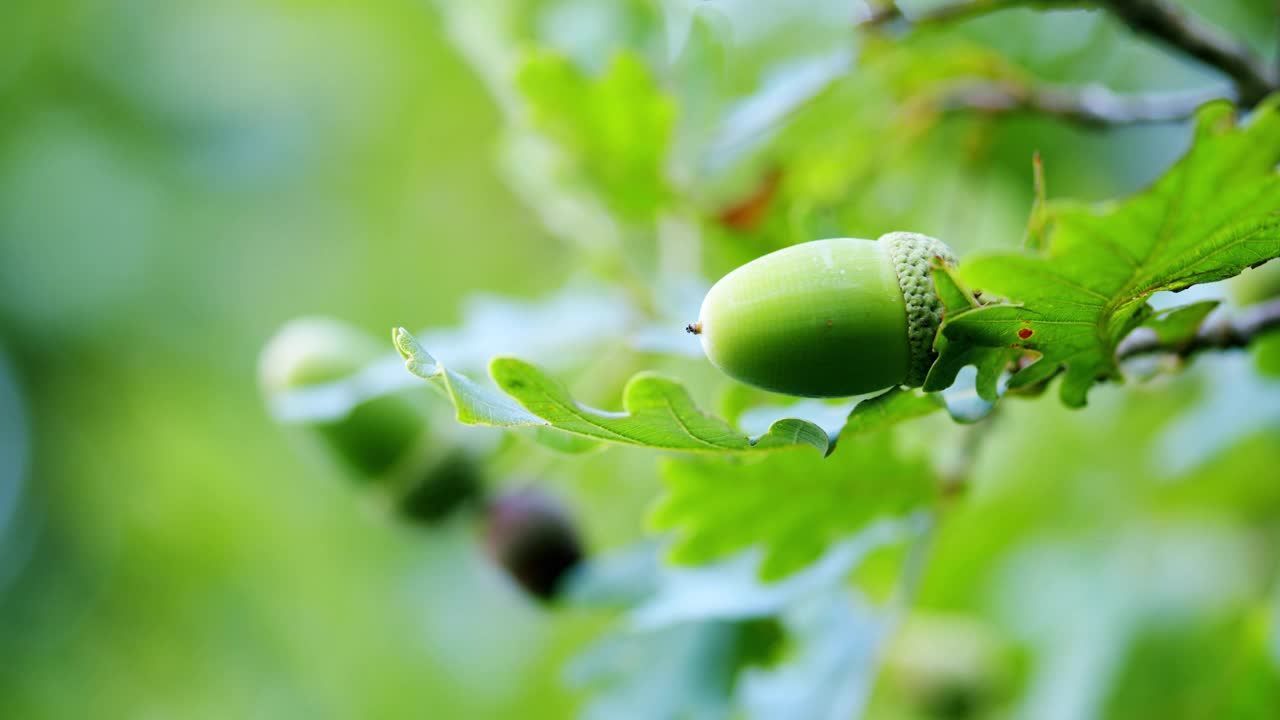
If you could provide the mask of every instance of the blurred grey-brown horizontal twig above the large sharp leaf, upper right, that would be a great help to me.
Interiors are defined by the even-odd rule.
[[[1100,85],[1075,88],[1053,85],[1019,85],[1007,81],[974,81],[945,90],[938,104],[946,111],[1034,113],[1056,117],[1092,129],[1102,129],[1185,120],[1201,105],[1219,97],[1222,97],[1222,94],[1212,88],[1120,95]]]

